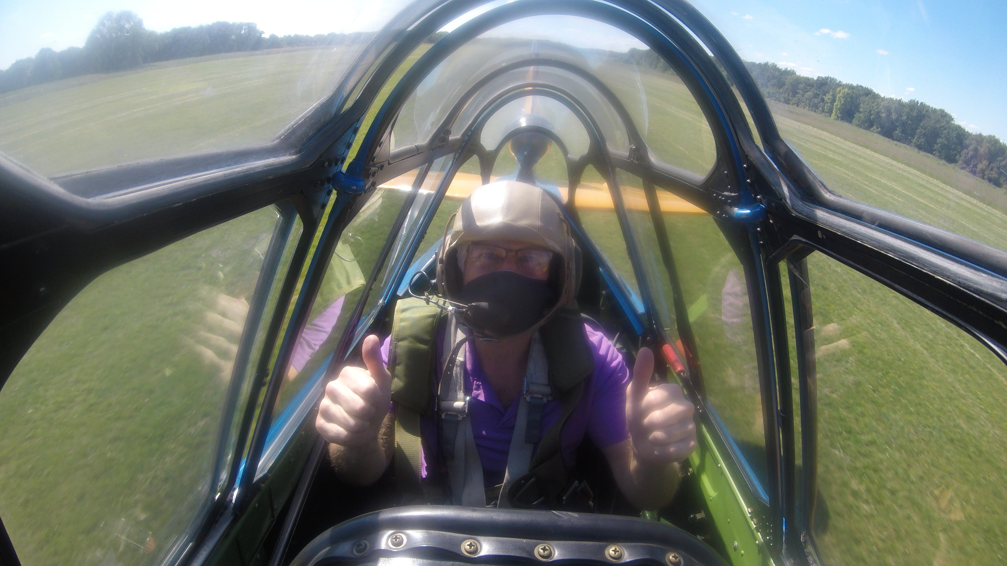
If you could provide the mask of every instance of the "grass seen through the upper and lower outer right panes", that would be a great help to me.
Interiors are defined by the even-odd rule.
[[[1007,249],[1001,189],[849,124],[771,108],[783,138],[832,190]],[[1004,365],[951,323],[850,268],[816,254],[809,271],[822,558],[1003,563]],[[793,321],[788,326],[793,336]]]

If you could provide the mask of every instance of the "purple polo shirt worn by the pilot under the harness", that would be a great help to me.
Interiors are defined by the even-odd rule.
[[[606,448],[629,438],[626,429],[625,402],[629,371],[622,361],[622,355],[615,349],[601,332],[585,324],[591,353],[594,356],[594,373],[587,378],[580,402],[570,414],[563,429],[561,446],[567,467],[573,467],[577,446],[587,434],[599,448]],[[382,345],[382,358],[388,364],[391,337]],[[438,341],[438,360],[443,348],[443,335]],[[511,449],[511,437],[518,416],[516,400],[506,410],[485,380],[476,350],[469,343],[465,350],[465,393],[471,397],[468,404],[475,446],[482,462],[486,485],[496,485],[503,481],[507,455]],[[546,403],[542,415],[541,437],[559,420],[560,402]],[[423,440],[421,475],[427,477],[434,458],[428,454],[437,452],[438,423],[433,417],[420,422]]]

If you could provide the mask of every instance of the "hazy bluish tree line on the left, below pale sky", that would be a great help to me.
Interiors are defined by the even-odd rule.
[[[35,56],[18,59],[0,70],[0,93],[82,75],[127,70],[150,62],[277,47],[342,45],[370,35],[265,36],[254,23],[228,21],[157,32],[144,28],[143,19],[133,12],[108,12],[98,19],[83,47],[61,51],[44,47]]]

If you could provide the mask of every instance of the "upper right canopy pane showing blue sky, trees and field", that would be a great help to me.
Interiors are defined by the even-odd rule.
[[[1007,251],[1004,3],[694,4],[830,190]]]

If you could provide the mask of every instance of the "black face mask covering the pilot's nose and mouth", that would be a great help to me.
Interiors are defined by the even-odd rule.
[[[531,328],[556,304],[548,281],[513,271],[494,271],[472,279],[461,289],[468,305],[462,322],[479,333],[513,336]]]

